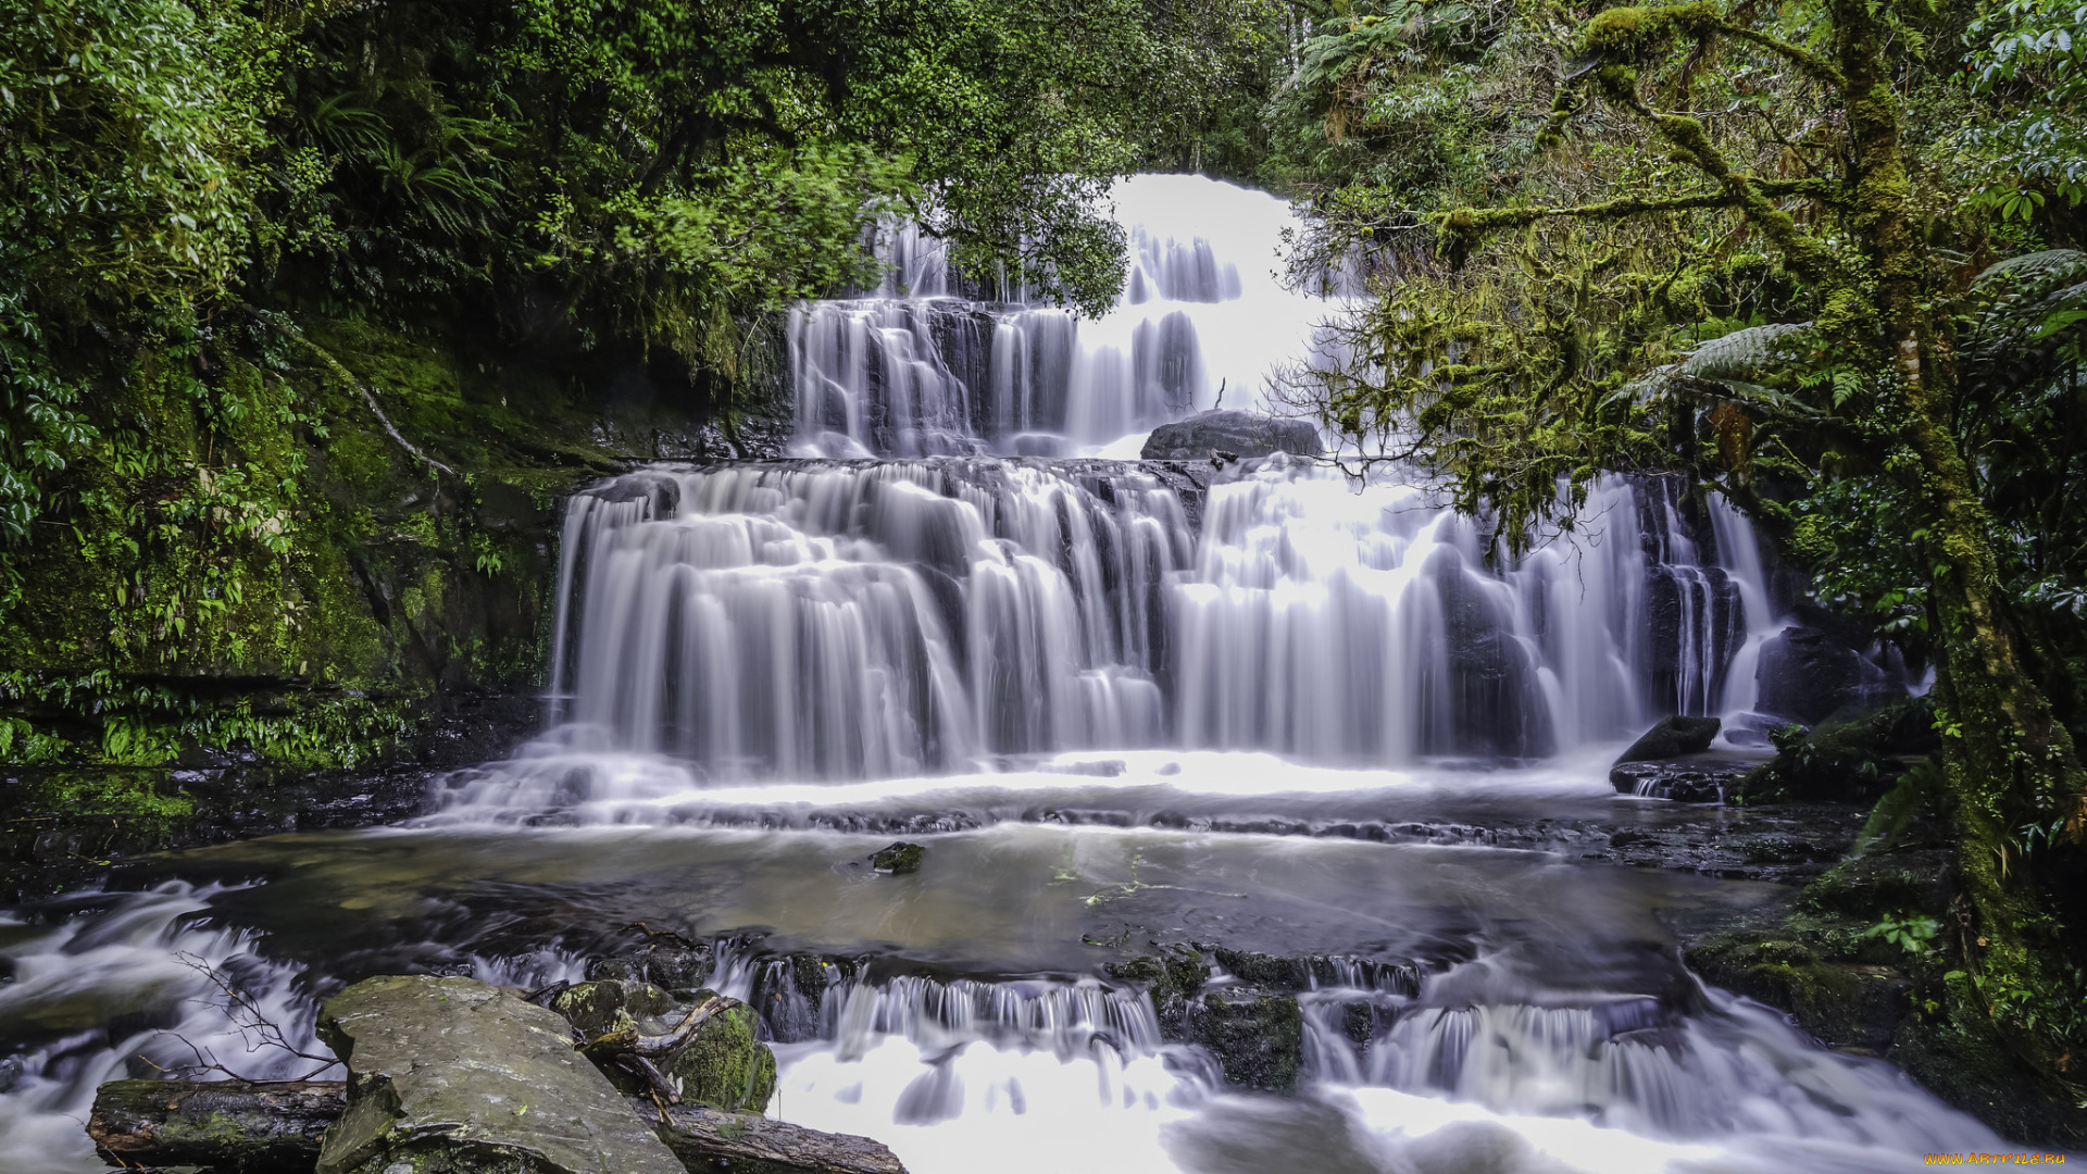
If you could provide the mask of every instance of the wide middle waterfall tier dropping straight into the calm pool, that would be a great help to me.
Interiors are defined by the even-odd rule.
[[[1605,483],[1588,529],[1505,568],[1421,491],[1284,457],[1208,487],[1119,462],[655,468],[574,497],[563,551],[574,733],[724,777],[1156,744],[1534,758],[1718,712],[1747,633],[1661,478]]]

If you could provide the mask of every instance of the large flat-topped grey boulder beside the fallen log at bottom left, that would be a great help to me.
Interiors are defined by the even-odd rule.
[[[317,1174],[680,1174],[572,1028],[470,978],[371,978],[319,1009],[349,1107]]]

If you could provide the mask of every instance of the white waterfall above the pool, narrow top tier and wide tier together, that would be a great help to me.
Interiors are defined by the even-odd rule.
[[[1073,750],[1528,762],[1751,702],[1774,631],[1759,551],[1678,476],[1605,478],[1576,526],[1511,558],[1396,470],[1066,455],[1131,451],[1221,389],[1267,409],[1340,305],[1279,280],[1292,213],[1273,196],[1144,175],[1117,215],[1127,280],[1092,322],[883,226],[879,288],[793,311],[797,457],[576,493],[555,735],[449,802]]]

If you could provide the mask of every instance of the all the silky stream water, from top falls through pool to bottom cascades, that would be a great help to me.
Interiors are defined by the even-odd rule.
[[[307,1040],[344,982],[576,978],[637,921],[710,938],[712,984],[762,1009],[770,1113],[914,1174],[1997,1149],[1686,971],[1678,925],[1776,886],[1544,831],[1655,811],[1605,777],[1651,721],[1753,706],[1780,618],[1745,518],[1613,478],[1511,558],[1398,476],[1129,460],[1194,412],[1279,409],[1340,303],[1281,280],[1273,196],[1160,175],[1117,207],[1104,320],[893,226],[883,288],[793,313],[791,460],[574,495],[547,733],[422,819],[173,852],[0,923],[0,1166],[96,1168],[94,1084],[182,1040],[290,1072],[188,963]],[[893,833],[918,873],[866,867]],[[1227,1082],[1179,996],[1121,978],[1198,942],[1217,1003],[1258,982],[1221,959],[1304,959],[1292,1088]]]

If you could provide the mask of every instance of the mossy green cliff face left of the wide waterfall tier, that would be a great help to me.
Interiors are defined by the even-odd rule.
[[[743,451],[657,368],[259,311],[104,355],[0,581],[0,762],[357,767],[536,691],[559,499]]]

